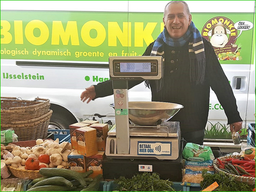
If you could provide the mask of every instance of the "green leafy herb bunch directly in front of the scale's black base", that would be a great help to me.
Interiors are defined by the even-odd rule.
[[[173,189],[173,182],[160,179],[157,173],[143,173],[134,175],[132,179],[120,177],[115,183],[119,191],[176,191]]]

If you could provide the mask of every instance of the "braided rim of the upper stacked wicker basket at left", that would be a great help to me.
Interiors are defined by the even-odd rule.
[[[1,102],[2,101],[10,101],[10,102],[39,102],[33,105],[29,106],[16,106],[12,107],[9,109],[1,109],[1,113],[20,113],[20,111],[24,111],[27,109],[34,109],[34,108],[39,108],[42,105],[45,105],[47,103],[50,103],[49,99],[44,99],[44,98],[35,98],[35,100],[19,100],[18,98],[15,99],[15,97],[1,97]]]

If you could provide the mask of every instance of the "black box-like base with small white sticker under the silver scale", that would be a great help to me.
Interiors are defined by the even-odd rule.
[[[182,181],[182,148],[180,142],[179,157],[176,160],[157,160],[157,159],[111,159],[105,157],[102,161],[103,178],[118,179],[120,176],[132,178],[134,175],[148,171],[149,165],[152,168],[150,173],[158,173],[161,179],[170,181]],[[144,166],[144,170],[143,170]]]

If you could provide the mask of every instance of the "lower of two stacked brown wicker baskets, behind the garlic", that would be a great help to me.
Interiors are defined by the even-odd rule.
[[[41,117],[23,121],[12,121],[12,123],[8,124],[2,123],[1,114],[1,131],[13,129],[14,133],[18,136],[18,141],[45,139],[52,112],[50,110]]]

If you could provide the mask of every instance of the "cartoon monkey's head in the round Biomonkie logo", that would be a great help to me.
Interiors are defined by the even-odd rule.
[[[208,32],[208,36],[211,36],[211,45],[214,47],[223,48],[228,42],[227,34],[230,33],[231,32],[228,29],[226,29],[226,27],[221,22],[214,25],[214,27],[212,27],[212,29]]]

